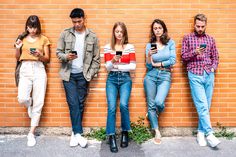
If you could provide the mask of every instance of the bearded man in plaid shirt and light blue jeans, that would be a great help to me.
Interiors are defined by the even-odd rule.
[[[207,17],[197,14],[194,32],[183,38],[181,56],[187,64],[191,95],[198,113],[197,142],[200,146],[208,142],[216,147],[220,141],[213,135],[209,112],[219,54],[215,40],[205,32],[206,26]]]

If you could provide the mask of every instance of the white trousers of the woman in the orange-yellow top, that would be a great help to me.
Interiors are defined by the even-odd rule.
[[[31,126],[38,126],[39,124],[46,87],[47,75],[43,63],[40,61],[22,61],[18,86],[18,102],[26,107],[33,103]]]

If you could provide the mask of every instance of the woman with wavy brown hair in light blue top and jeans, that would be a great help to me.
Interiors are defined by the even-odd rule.
[[[150,41],[146,45],[147,73],[144,90],[148,105],[148,119],[155,130],[155,144],[161,144],[158,117],[165,108],[165,99],[171,86],[171,68],[176,62],[175,42],[168,36],[164,21],[151,24]]]

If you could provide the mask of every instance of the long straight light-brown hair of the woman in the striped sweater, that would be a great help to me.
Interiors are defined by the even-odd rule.
[[[125,44],[128,44],[128,32],[125,24],[123,22],[116,22],[112,29],[112,37],[111,37],[111,49],[115,50],[115,44],[116,44],[116,37],[115,37],[115,29],[120,26],[123,31],[123,39],[121,41],[122,46]]]

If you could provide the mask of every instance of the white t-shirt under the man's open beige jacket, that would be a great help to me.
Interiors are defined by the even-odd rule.
[[[71,73],[81,73],[83,72],[83,59],[84,59],[84,38],[85,38],[85,31],[75,32],[75,47],[74,51],[77,51],[78,58],[72,61],[72,69]]]

